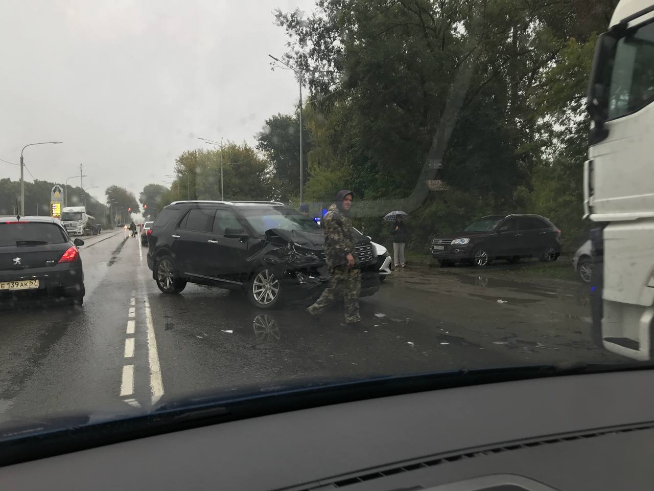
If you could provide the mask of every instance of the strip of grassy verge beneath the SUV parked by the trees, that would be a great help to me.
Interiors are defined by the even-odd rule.
[[[392,252],[392,251],[391,251]],[[405,252],[406,260],[409,265],[428,266],[430,268],[439,268],[438,262],[428,253],[419,253],[415,251]],[[472,266],[452,266],[446,268],[448,272],[466,274],[473,272],[482,272],[487,276],[510,276],[511,278],[552,278],[555,280],[564,280],[568,282],[578,282],[577,274],[572,269],[572,256],[562,255],[553,263],[541,263],[537,259],[521,259],[517,264],[506,264],[506,261],[498,260],[485,268],[475,270]]]

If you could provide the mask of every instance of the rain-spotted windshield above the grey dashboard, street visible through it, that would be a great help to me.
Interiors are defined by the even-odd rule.
[[[0,217],[48,224],[0,225],[0,465],[15,420],[651,363],[652,12],[586,109],[617,3],[2,2]]]

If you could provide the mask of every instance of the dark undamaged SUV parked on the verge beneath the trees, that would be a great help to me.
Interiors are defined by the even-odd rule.
[[[441,266],[468,262],[486,266],[494,259],[517,262],[521,257],[556,261],[561,231],[540,215],[488,215],[462,232],[432,240],[432,256]]]

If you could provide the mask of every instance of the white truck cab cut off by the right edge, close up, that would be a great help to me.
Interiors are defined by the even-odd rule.
[[[595,268],[593,333],[649,360],[654,346],[654,1],[621,0],[598,37],[587,109],[585,216]]]

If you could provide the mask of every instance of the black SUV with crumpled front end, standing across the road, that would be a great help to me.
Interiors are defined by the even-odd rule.
[[[370,239],[355,232],[361,296],[379,289]],[[315,221],[277,202],[177,201],[163,208],[148,235],[148,267],[163,293],[187,282],[245,290],[273,308],[320,295],[328,272],[324,234]]]

